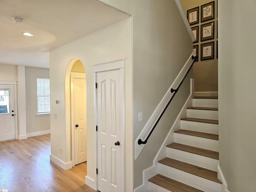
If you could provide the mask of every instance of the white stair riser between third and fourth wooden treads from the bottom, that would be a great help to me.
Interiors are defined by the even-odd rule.
[[[174,133],[174,142],[219,152],[219,141]]]

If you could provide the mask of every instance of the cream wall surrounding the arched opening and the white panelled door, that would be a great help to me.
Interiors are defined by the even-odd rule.
[[[94,79],[92,66],[104,62],[125,59],[125,150],[126,191],[132,191],[132,19],[128,18],[88,36],[80,38],[50,52],[51,90],[51,155],[64,163],[70,163],[70,124],[65,117],[65,76],[70,61],[79,59],[84,64],[87,86],[87,176],[96,182]],[[69,88],[68,88],[69,89]],[[60,100],[55,104],[55,100]],[[57,114],[57,119],[54,119]],[[62,154],[60,154],[62,147]]]

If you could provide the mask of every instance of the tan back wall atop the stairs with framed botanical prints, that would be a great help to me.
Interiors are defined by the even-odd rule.
[[[180,0],[180,3],[196,38],[195,91],[218,92],[218,0]]]

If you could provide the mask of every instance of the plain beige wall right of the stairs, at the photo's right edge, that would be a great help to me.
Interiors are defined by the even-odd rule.
[[[256,1],[218,1],[220,168],[230,192],[256,191]]]

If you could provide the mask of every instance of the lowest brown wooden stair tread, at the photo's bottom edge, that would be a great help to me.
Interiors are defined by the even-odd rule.
[[[203,192],[199,189],[188,186],[188,185],[178,182],[176,180],[170,179],[161,174],[157,174],[156,176],[150,178],[148,181],[150,181],[158,186],[161,186],[167,190],[170,190],[172,192]]]

